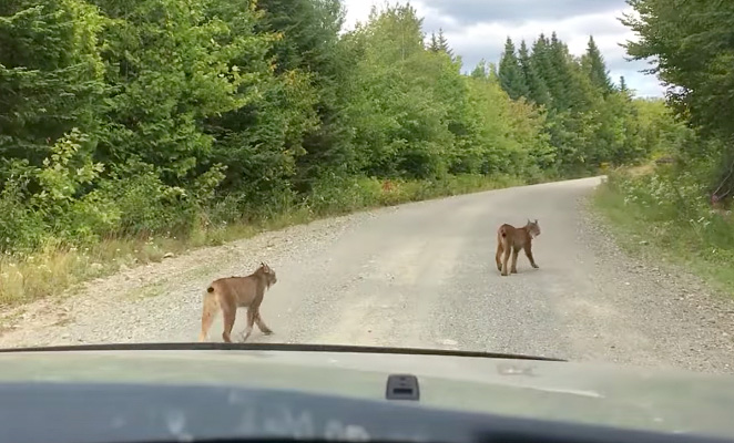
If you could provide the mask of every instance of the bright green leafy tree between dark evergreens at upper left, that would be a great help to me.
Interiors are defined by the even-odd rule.
[[[258,93],[247,87],[249,66],[231,62],[263,51],[265,38],[232,37],[212,16],[208,2],[98,0],[111,17],[103,58],[115,92],[103,116],[98,157],[105,163],[131,158],[155,165],[164,183],[195,178],[212,137],[201,122],[249,104]],[[242,12],[247,13],[248,11]]]

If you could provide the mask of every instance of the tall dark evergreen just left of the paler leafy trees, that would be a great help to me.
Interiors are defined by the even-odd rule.
[[[248,94],[245,106],[207,119],[204,126],[214,137],[211,162],[227,166],[222,187],[246,193],[248,203],[255,205],[289,192],[285,183],[295,182],[299,171],[306,174],[307,168],[296,169],[296,163],[315,155],[306,151],[306,140],[325,130],[322,122],[333,113],[335,87],[330,80],[335,66],[325,48],[328,33],[318,31],[323,34],[314,41],[298,28],[320,27],[316,23],[322,20],[315,12],[316,3],[262,1],[258,4],[267,10],[246,13],[238,0],[213,3],[210,13],[228,24],[233,38],[253,39],[255,33],[267,35],[267,40],[261,41],[257,51],[252,48],[233,54],[230,61],[251,71],[252,83],[243,90],[258,93]],[[300,10],[304,17],[295,24],[284,17],[294,10]],[[293,38],[277,39],[276,33],[285,29]],[[306,34],[305,40],[297,39],[302,34]],[[263,73],[271,69],[272,74]],[[320,114],[315,109],[318,92],[323,92],[318,95]],[[329,147],[327,143],[323,145],[324,151]]]

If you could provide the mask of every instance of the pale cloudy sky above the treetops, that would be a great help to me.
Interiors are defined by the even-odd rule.
[[[385,0],[343,2],[347,28],[366,21],[373,4],[385,4]],[[497,63],[508,37],[518,47],[521,39],[530,45],[541,32],[550,35],[555,31],[571,53],[581,55],[593,35],[615,83],[624,75],[636,95],[663,95],[657,79],[640,72],[648,63],[626,61],[624,48],[619,45],[635,37],[619,21],[630,11],[624,0],[411,0],[410,4],[424,18],[427,34],[444,29],[453,52],[461,55],[465,71],[481,59]]]

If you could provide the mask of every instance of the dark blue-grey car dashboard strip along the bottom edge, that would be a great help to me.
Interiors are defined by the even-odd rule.
[[[724,442],[424,408],[416,380],[386,381],[385,401],[305,392],[139,383],[2,383],[0,441],[137,442]],[[488,399],[490,401],[491,399]]]

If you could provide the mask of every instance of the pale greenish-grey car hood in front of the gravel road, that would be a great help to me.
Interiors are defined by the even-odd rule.
[[[0,353],[0,382],[100,382],[297,390],[386,401],[414,374],[419,404],[671,433],[734,435],[728,375],[452,354],[296,350],[64,350]]]

